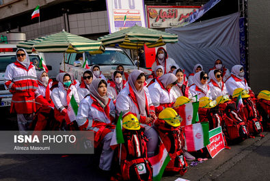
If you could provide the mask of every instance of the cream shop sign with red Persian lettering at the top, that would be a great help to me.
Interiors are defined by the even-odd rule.
[[[150,28],[176,27],[200,6],[148,5],[147,21]]]

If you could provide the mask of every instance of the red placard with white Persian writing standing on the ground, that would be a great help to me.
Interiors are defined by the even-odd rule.
[[[213,130],[209,130],[209,141],[210,144],[206,145],[206,148],[211,157],[214,158],[221,150],[225,148],[221,126]]]

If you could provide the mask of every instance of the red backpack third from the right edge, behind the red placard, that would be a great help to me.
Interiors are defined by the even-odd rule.
[[[221,127],[226,140],[243,140],[249,137],[247,124],[245,124],[239,113],[237,113],[235,102],[228,101],[219,104],[219,110],[222,116]]]

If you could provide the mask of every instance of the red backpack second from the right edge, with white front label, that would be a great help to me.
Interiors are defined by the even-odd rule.
[[[247,123],[249,133],[252,135],[258,135],[263,132],[262,117],[258,114],[256,105],[252,98],[243,98],[243,117]]]

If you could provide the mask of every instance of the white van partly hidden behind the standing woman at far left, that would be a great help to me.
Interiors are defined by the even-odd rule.
[[[12,94],[7,87],[5,87],[4,76],[7,66],[16,61],[16,50],[16,44],[0,44],[0,107],[10,107],[11,105]],[[42,53],[29,54],[29,59],[33,62],[34,66],[36,66],[37,72],[41,71],[40,68],[38,68],[41,57]],[[51,69],[51,66],[47,67]]]

